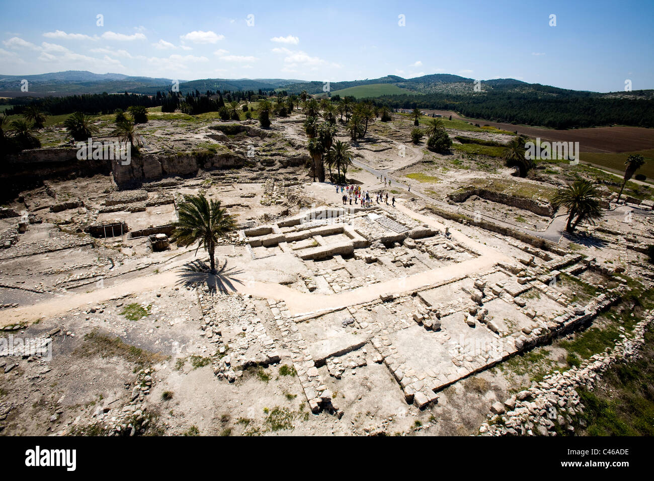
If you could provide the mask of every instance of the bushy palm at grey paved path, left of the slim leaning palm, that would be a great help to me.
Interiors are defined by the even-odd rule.
[[[577,224],[586,221],[593,225],[596,219],[602,217],[599,192],[589,181],[578,179],[573,185],[560,189],[554,196],[552,204],[568,209],[566,231],[574,232]]]

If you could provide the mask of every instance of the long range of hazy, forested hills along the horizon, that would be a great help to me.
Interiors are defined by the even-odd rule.
[[[27,79],[29,92],[20,91],[20,81]],[[88,71],[66,71],[40,75],[0,75],[0,105],[25,105],[30,99],[18,97],[63,97],[73,94],[102,94],[107,92],[133,94],[156,94],[171,89],[171,79],[130,77],[118,73],[97,74]],[[248,91],[276,90],[288,94],[324,96],[325,84],[320,81],[292,79],[199,79],[180,80],[182,94],[207,90]],[[588,92],[569,90],[542,84],[530,84],[516,79],[477,80],[436,73],[404,79],[386,75],[378,79],[330,82],[330,96],[353,96],[370,99],[377,105],[392,108],[456,111],[468,118],[480,118],[496,122],[538,125],[558,129],[592,126],[628,125],[654,127],[654,90],[634,92]],[[52,99],[51,99],[52,100]],[[90,106],[86,107],[86,103]],[[152,99],[129,101],[148,103]],[[77,102],[77,103],[75,103]],[[81,102],[81,103],[80,103]],[[53,102],[50,101],[50,104]],[[84,105],[91,111],[103,111],[103,103],[97,99],[76,99],[75,105]],[[62,101],[61,109],[73,105]],[[46,105],[43,101],[41,105]],[[149,105],[149,103],[148,103]],[[81,108],[81,107],[79,107]],[[115,108],[115,107],[114,107]],[[59,109],[59,110],[61,110]],[[55,110],[52,105],[46,110]]]

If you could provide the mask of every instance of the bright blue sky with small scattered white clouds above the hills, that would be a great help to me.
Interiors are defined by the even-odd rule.
[[[651,0],[31,0],[2,12],[5,75],[334,82],[453,73],[598,92],[624,90],[627,79],[634,90],[654,88]]]

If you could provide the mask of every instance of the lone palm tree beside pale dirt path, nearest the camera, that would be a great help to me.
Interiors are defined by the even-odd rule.
[[[220,200],[211,199],[210,202],[204,194],[184,196],[184,202],[179,205],[179,221],[175,223],[172,238],[181,246],[198,242],[198,249],[204,247],[209,253],[211,274],[216,274],[216,243],[233,230],[236,230],[235,219],[227,213],[227,209],[220,207]]]

